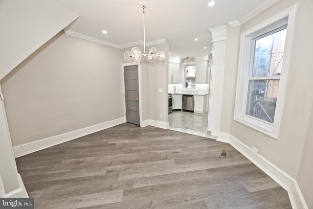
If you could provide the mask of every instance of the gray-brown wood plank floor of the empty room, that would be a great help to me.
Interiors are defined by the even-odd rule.
[[[291,209],[229,144],[152,126],[124,123],[16,162],[35,209]]]

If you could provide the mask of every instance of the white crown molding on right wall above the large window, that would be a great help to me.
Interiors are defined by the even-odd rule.
[[[257,16],[258,14],[260,14],[261,12],[263,12],[268,7],[270,7],[271,5],[273,5],[274,3],[278,1],[279,0],[264,0],[261,4],[259,4],[255,9],[253,9],[251,12],[249,12],[245,16],[239,18],[238,20],[229,21],[227,23],[231,27],[240,26],[246,23],[247,21],[251,20],[252,18],[254,18],[255,16]]]

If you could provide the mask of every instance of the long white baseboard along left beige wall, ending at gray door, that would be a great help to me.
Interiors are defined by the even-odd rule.
[[[101,131],[107,128],[111,128],[113,126],[116,126],[125,122],[126,122],[126,117],[121,117],[121,118],[114,119],[108,122],[82,128],[76,131],[71,131],[65,134],[60,134],[57,136],[40,139],[40,140],[32,141],[30,143],[25,143],[25,144],[21,144],[18,146],[14,146],[13,147],[14,156],[15,158],[18,158],[23,155],[27,155],[27,154],[69,141],[72,139],[77,139],[77,138],[86,136],[88,134]]]

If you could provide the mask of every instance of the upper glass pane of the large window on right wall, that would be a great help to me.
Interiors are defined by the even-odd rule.
[[[252,77],[280,75],[287,28],[255,40]]]

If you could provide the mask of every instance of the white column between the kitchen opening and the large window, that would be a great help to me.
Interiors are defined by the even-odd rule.
[[[207,130],[212,136],[217,137],[220,133],[222,115],[227,25],[209,30],[212,32],[213,52]]]

